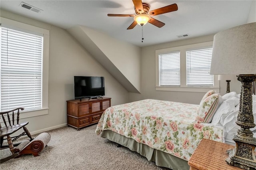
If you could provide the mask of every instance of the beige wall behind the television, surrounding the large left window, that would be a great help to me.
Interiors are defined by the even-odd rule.
[[[28,129],[38,133],[66,125],[66,100],[74,99],[74,75],[104,76],[105,95],[112,105],[128,102],[128,92],[66,31],[1,10],[4,18],[50,30],[49,113],[30,117]]]

